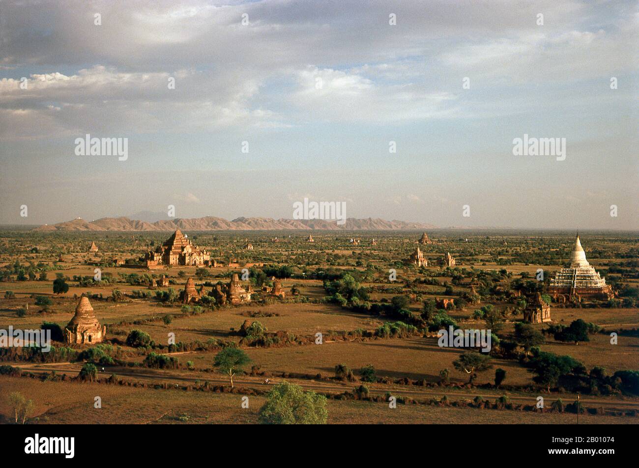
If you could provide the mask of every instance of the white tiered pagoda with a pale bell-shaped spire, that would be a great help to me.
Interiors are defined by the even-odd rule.
[[[601,278],[586,260],[579,234],[574,242],[574,251],[568,268],[562,268],[550,280],[548,292],[557,297],[567,294],[569,298],[590,298],[607,300],[613,297],[612,288],[606,284],[606,278]]]

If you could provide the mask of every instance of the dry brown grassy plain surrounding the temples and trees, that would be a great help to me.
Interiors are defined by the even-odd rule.
[[[309,245],[301,234],[286,238],[281,243],[272,243],[273,236],[251,234],[254,250],[242,250],[242,244],[235,233],[211,236],[199,234],[198,244],[206,246],[213,257],[219,259],[241,259],[239,262],[264,264],[250,270],[253,300],[243,305],[199,304],[201,310],[184,308],[179,298],[162,301],[158,293],[172,289],[176,295],[184,288],[186,279],[194,278],[196,288],[203,288],[203,294],[212,290],[218,282],[227,283],[232,273],[240,273],[240,268],[218,266],[215,268],[195,268],[171,266],[171,268],[146,269],[141,265],[116,268],[111,259],[118,257],[135,262],[151,243],[157,245],[167,234],[104,234],[57,233],[34,234],[25,232],[0,233],[0,329],[13,326],[17,329],[38,329],[43,322],[54,322],[61,328],[73,317],[79,297],[89,296],[95,316],[107,326],[107,344],[112,345],[112,356],[118,359],[114,366],[105,367],[98,378],[111,374],[130,382],[146,384],[169,384],[170,386],[196,384],[208,381],[224,384],[226,377],[214,369],[215,356],[219,345],[210,349],[169,350],[169,334],[175,343],[196,347],[197,343],[234,342],[249,356],[250,364],[244,367],[248,373],[251,366],[258,372],[266,372],[272,383],[282,381],[282,374],[293,374],[287,380],[321,393],[337,394],[353,391],[359,381],[360,369],[372,365],[376,378],[384,381],[366,383],[373,395],[394,392],[411,398],[441,398],[472,400],[476,395],[486,395],[495,400],[500,395],[516,398],[521,404],[532,404],[537,395],[545,390],[535,384],[533,376],[520,359],[512,356],[494,355],[490,368],[477,372],[475,386],[437,387],[442,380],[440,372],[447,369],[452,382],[466,384],[468,374],[458,370],[455,361],[467,350],[442,348],[426,329],[408,336],[370,336],[386,322],[394,322],[397,317],[389,313],[371,313],[353,304],[339,305],[330,300],[332,281],[344,277],[346,273],[356,278],[358,287],[367,291],[366,302],[370,305],[389,307],[397,296],[404,297],[404,310],[409,321],[419,322],[424,301],[431,299],[455,299],[459,306],[446,310],[451,319],[461,328],[484,329],[486,321],[475,316],[482,306],[493,306],[502,315],[501,339],[510,340],[514,336],[515,323],[522,320],[523,306],[520,298],[512,298],[503,291],[518,285],[537,287],[535,274],[539,268],[547,276],[553,275],[569,255],[570,236],[537,236],[477,234],[462,236],[451,232],[438,232],[431,237],[433,245],[423,246],[429,258],[427,268],[416,268],[403,262],[415,248],[418,233],[375,233],[377,246],[370,246],[362,239],[362,245],[349,246],[348,235],[314,236],[316,242]],[[104,237],[103,237],[104,236]],[[371,236],[373,237],[373,236]],[[86,244],[94,240],[101,249],[99,253],[85,253]],[[467,240],[466,240],[467,239]],[[596,250],[599,257],[591,262],[602,274],[608,270],[607,278],[617,292],[617,303],[590,303],[559,305],[551,303],[552,324],[568,326],[577,319],[592,322],[604,328],[607,333],[590,333],[588,342],[578,344],[560,342],[552,335],[544,335],[541,351],[558,355],[568,355],[577,359],[587,369],[603,366],[608,375],[617,371],[639,370],[639,336],[633,329],[639,329],[639,308],[624,304],[624,298],[634,294],[632,288],[639,284],[637,279],[636,236],[618,236],[612,242],[604,236],[589,238],[589,248]],[[444,268],[440,264],[443,253],[452,252],[458,264],[455,268]],[[58,257],[63,255],[63,262]],[[535,261],[537,260],[537,261]],[[282,278],[285,299],[277,299],[261,291],[256,276],[262,269],[269,271],[259,281],[270,285],[268,268],[289,267]],[[96,268],[102,279],[94,282]],[[389,281],[389,269],[395,269],[397,280]],[[38,278],[22,276],[20,271],[33,271]],[[39,278],[45,272],[46,279]],[[53,280],[57,276],[65,278],[68,291],[54,294]],[[148,280],[157,280],[166,275],[169,287],[148,287]],[[247,282],[245,282],[248,284]],[[471,287],[473,283],[473,287]],[[479,303],[468,303],[468,298],[476,287]],[[542,285],[543,287],[543,285]],[[120,292],[114,300],[114,291]],[[295,294],[293,294],[295,291]],[[502,292],[500,292],[502,291]],[[6,292],[6,294],[5,294]],[[9,293],[11,292],[11,293]],[[624,296],[626,294],[626,296]],[[145,297],[146,296],[146,297]],[[49,298],[50,304],[43,306],[42,297]],[[525,303],[524,303],[525,305]],[[441,306],[437,307],[441,309]],[[169,316],[170,321],[163,319]],[[405,316],[406,317],[406,316]],[[245,321],[259,321],[265,328],[265,336],[296,336],[302,344],[293,342],[249,343],[242,341],[240,328]],[[533,329],[541,331],[548,324],[533,324]],[[147,333],[152,340],[150,348],[130,347],[125,342],[128,334],[138,329]],[[356,332],[357,331],[357,332]],[[618,343],[611,344],[610,332],[620,332]],[[314,336],[322,333],[323,343],[315,344]],[[353,332],[348,339],[335,338]],[[368,334],[360,338],[362,333]],[[215,340],[212,342],[212,340]],[[65,343],[54,342],[63,347]],[[92,345],[72,345],[76,351],[86,350]],[[167,354],[178,359],[177,368],[152,369],[144,366],[150,352]],[[80,362],[55,361],[40,364],[37,361],[12,361],[4,358],[1,365],[19,366],[38,374],[68,374],[75,377],[84,364]],[[332,379],[335,366],[344,364],[353,370],[354,382],[340,382]],[[505,370],[505,389],[488,386],[494,381],[495,370]],[[306,379],[296,374],[308,374]],[[322,379],[315,379],[321,374]],[[250,376],[240,372],[238,382],[247,388],[263,391],[268,389],[262,381],[264,377]],[[44,377],[42,377],[44,379]],[[425,381],[430,387],[400,385],[399,379]],[[478,387],[480,385],[481,387]],[[240,395],[201,391],[181,391],[131,386],[107,385],[91,382],[59,381],[55,379],[33,379],[0,375],[0,414],[8,418],[11,408],[6,395],[19,391],[33,400],[35,407],[29,415],[32,423],[255,423],[259,408],[265,402],[264,396],[250,396],[249,409],[240,407]],[[102,410],[93,409],[93,398],[100,396]],[[571,389],[553,389],[548,398],[551,401],[561,397],[572,402],[576,393]],[[592,407],[602,405],[615,408],[639,409],[639,398],[629,393],[616,395],[584,395],[590,398]],[[518,400],[517,400],[518,399]],[[616,402],[616,403],[615,403]],[[328,423],[566,423],[574,414],[533,414],[512,410],[479,410],[472,408],[437,407],[432,405],[397,405],[389,409],[383,402],[332,400],[327,403]],[[594,424],[636,423],[639,418],[630,416],[585,415],[583,421]]]

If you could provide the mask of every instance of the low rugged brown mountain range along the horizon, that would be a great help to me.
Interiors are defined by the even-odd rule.
[[[45,224],[36,227],[38,231],[150,231],[150,230],[423,230],[433,229],[432,224],[412,223],[406,221],[385,221],[380,218],[356,219],[347,218],[344,224],[327,220],[286,220],[273,218],[235,218],[233,221],[215,216],[203,218],[176,218],[174,220],[159,220],[154,223],[132,220],[127,216],[119,218],[100,218],[86,221],[77,218],[58,224]]]

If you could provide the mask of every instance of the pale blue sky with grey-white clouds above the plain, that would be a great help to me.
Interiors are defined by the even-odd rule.
[[[636,5],[0,1],[0,223],[293,218],[307,197],[438,227],[639,229]],[[86,134],[127,159],[77,155]],[[565,159],[514,155],[524,135],[565,139]]]

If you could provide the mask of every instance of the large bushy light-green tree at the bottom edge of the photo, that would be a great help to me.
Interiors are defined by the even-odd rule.
[[[282,382],[268,392],[266,403],[259,409],[258,421],[262,424],[326,424],[327,418],[325,396]]]

